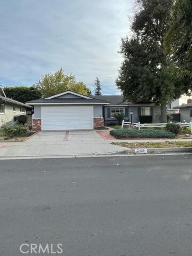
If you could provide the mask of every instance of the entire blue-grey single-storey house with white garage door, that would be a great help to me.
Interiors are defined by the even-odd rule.
[[[86,130],[116,123],[114,115],[124,113],[125,119],[138,122],[140,116],[152,116],[160,122],[160,107],[152,102],[124,102],[122,96],[86,96],[70,90],[44,99],[27,102],[34,106],[35,130]]]

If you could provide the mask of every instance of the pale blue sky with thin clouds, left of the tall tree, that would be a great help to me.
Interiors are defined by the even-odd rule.
[[[130,35],[132,0],[1,0],[0,84],[32,86],[63,68],[92,92],[120,94],[121,37]]]

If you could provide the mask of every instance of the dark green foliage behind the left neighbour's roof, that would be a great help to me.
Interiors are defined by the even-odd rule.
[[[4,92],[8,98],[17,100],[19,102],[25,103],[30,100],[36,100],[41,98],[41,93],[32,87],[27,86],[11,86],[5,87]]]

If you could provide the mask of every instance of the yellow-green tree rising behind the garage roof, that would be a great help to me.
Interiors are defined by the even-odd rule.
[[[65,90],[72,90],[80,94],[90,94],[90,89],[84,82],[77,82],[76,77],[72,74],[65,74],[62,68],[55,74],[45,74],[34,84],[43,97],[49,97]]]

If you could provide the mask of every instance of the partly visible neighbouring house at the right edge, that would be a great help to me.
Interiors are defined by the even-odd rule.
[[[181,106],[175,106],[174,108],[179,108],[180,122],[191,122],[192,121],[192,99],[187,100],[187,104],[182,104]]]

